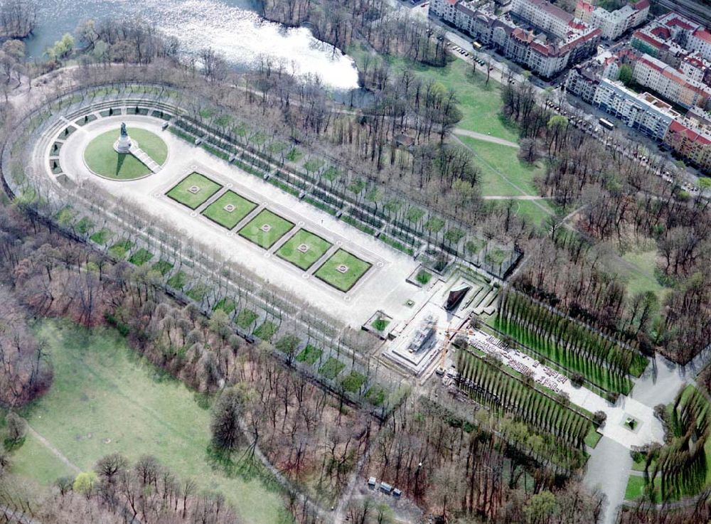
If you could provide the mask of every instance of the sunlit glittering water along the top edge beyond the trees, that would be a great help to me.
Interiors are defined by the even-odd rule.
[[[80,21],[122,16],[153,23],[181,41],[186,53],[211,47],[237,68],[249,69],[260,57],[282,63],[289,73],[317,76],[332,90],[358,87],[353,59],[317,40],[309,29],[264,21],[252,0],[38,0],[35,35],[27,41],[30,60]]]

